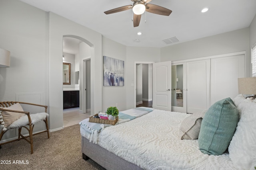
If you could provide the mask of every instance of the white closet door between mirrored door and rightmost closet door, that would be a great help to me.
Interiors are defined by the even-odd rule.
[[[187,113],[210,107],[210,59],[187,63]]]

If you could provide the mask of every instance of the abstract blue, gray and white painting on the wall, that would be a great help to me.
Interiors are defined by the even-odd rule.
[[[103,56],[103,86],[124,86],[124,61]]]

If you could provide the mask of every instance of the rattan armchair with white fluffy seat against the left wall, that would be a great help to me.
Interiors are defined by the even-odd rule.
[[[28,111],[23,111],[23,109],[20,110],[12,110],[10,106],[13,106],[14,104],[22,104],[22,105],[30,105],[30,106],[38,106],[38,107],[44,107],[45,112],[43,113],[35,113],[35,114],[30,114],[30,112]],[[10,107],[8,109],[8,107]],[[21,106],[20,106],[21,107]],[[19,113],[24,113],[25,115],[21,116],[20,118],[18,118],[17,120],[15,120],[13,123],[11,123],[10,125],[8,125],[7,127],[4,126],[4,111],[8,111],[9,114],[19,114]],[[40,133],[44,133],[47,132],[48,134],[48,139],[50,138],[50,134],[49,134],[49,128],[48,128],[48,113],[47,113],[47,106],[43,106],[43,105],[38,105],[38,104],[32,104],[32,103],[25,103],[25,102],[0,102],[0,125],[2,126],[1,132],[0,132],[0,141],[4,135],[4,133],[6,133],[9,129],[14,129],[14,128],[18,128],[18,139],[14,139],[12,141],[8,141],[8,142],[4,142],[4,143],[0,143],[0,148],[1,145],[4,145],[6,143],[10,143],[13,141],[17,141],[20,139],[25,139],[28,143],[30,143],[30,149],[31,149],[31,154],[33,154],[33,135],[37,135]],[[35,123],[37,123],[38,121],[44,121],[45,125],[46,125],[46,130],[45,131],[41,131],[38,133],[34,133],[33,134],[33,129],[34,129],[34,125]],[[25,129],[28,130],[28,135],[27,136],[23,136],[21,134],[21,130],[22,127],[24,127]],[[29,139],[27,139],[29,138]]]

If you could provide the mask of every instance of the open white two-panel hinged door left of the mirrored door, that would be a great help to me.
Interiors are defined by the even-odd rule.
[[[153,63],[153,108],[171,111],[172,62]]]

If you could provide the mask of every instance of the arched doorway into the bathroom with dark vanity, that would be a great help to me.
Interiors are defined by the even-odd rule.
[[[66,88],[71,90],[71,92],[78,92],[79,97],[77,96],[77,100],[80,101],[78,107],[63,110],[64,127],[78,124],[83,119],[90,117],[90,103],[85,104],[85,107],[83,107],[84,101],[90,102],[90,58],[89,60],[88,58],[83,59],[83,56],[87,56],[91,51],[90,46],[78,38],[63,37],[63,59],[65,62],[68,61],[71,64],[71,81],[70,84],[63,85],[63,90]],[[85,89],[84,87],[87,87],[87,93],[83,91]]]

